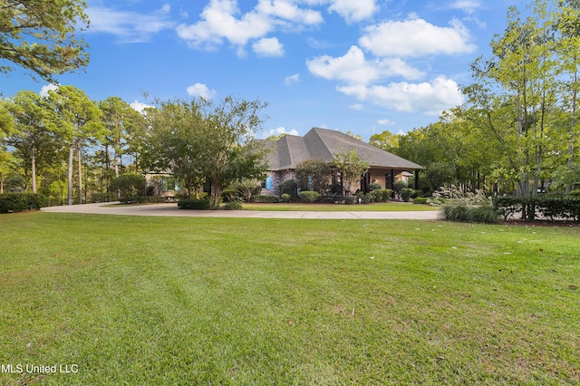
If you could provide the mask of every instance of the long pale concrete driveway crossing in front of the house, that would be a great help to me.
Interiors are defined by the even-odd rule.
[[[437,211],[409,212],[314,212],[314,211],[261,211],[261,210],[183,210],[177,204],[151,204],[111,207],[113,203],[83,204],[66,207],[43,207],[43,212],[87,213],[125,216],[166,217],[247,217],[247,218],[306,218],[306,219],[413,219],[435,220]]]

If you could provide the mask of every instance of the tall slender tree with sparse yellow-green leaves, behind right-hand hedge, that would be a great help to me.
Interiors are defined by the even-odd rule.
[[[526,19],[517,7],[510,7],[506,31],[491,43],[492,58],[472,66],[478,85],[464,90],[471,106],[480,109],[493,104],[510,113],[504,118],[513,124],[495,138],[502,145],[515,144],[515,156],[509,156],[509,174],[517,174],[517,195],[521,197],[534,196],[546,173],[546,134],[556,106],[555,40],[550,18],[544,0],[536,0]],[[488,118],[491,116],[487,113]],[[491,122],[491,126],[498,129],[505,127],[505,122]]]

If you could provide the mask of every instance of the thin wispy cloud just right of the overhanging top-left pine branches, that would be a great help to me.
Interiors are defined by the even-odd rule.
[[[148,42],[152,35],[173,28],[169,20],[169,5],[152,14],[138,14],[130,11],[115,11],[111,8],[89,6],[87,14],[91,19],[88,33],[117,35],[122,43]]]

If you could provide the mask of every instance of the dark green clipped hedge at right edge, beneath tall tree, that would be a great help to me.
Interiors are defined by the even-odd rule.
[[[536,220],[537,216],[580,221],[580,198],[539,196],[515,198],[509,196],[493,198],[493,207],[505,220],[521,215],[522,219]]]

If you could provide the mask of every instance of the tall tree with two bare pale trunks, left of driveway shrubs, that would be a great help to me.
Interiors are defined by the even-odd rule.
[[[82,204],[82,148],[87,141],[102,137],[101,111],[81,90],[73,86],[60,86],[48,92],[57,134],[69,150],[67,173],[67,205],[73,205],[73,159],[77,154],[79,204]]]

